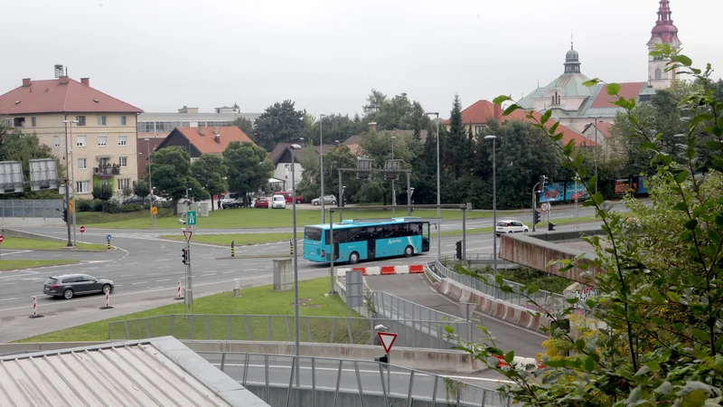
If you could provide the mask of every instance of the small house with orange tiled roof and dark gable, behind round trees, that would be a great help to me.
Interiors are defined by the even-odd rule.
[[[191,156],[191,161],[198,159],[202,154],[223,154],[223,150],[229,147],[230,142],[249,142],[256,146],[240,128],[202,127],[202,128],[174,128],[168,137],[156,147],[160,150],[165,147],[180,146]],[[144,153],[138,151],[138,153]],[[144,153],[146,154],[146,153]]]

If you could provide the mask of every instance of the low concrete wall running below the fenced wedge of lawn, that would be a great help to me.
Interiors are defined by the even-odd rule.
[[[195,352],[242,352],[270,355],[295,355],[295,345],[291,342],[258,341],[181,341]],[[98,345],[105,342],[47,342],[0,344],[0,355],[12,355],[25,352],[69,349],[72,347]],[[301,355],[356,359],[373,361],[384,355],[381,346],[373,345],[300,345]],[[395,346],[390,353],[391,364],[409,369],[432,371],[437,373],[473,374],[484,370],[472,355],[455,350],[419,349]]]

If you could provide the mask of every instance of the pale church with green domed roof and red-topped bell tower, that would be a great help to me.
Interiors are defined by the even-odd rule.
[[[670,44],[673,49],[680,49],[678,28],[671,19],[669,0],[660,0],[658,19],[653,27],[650,41],[646,44],[646,52],[655,49],[656,44]],[[618,95],[626,99],[650,100],[656,89],[667,89],[675,80],[675,71],[665,72],[669,59],[648,56],[647,81],[618,83],[621,90]],[[613,105],[616,98],[607,94],[606,83],[598,83],[587,87],[584,83],[589,78],[580,70],[579,53],[574,44],[565,55],[564,72],[547,86],[533,90],[517,103],[524,109],[538,112],[552,110],[552,117],[560,124],[583,131],[590,123],[613,123],[615,116],[623,111]]]

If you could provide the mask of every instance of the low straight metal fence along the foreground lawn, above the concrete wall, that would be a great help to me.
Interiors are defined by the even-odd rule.
[[[247,340],[293,342],[293,316],[166,315],[108,322],[108,339],[174,336],[183,340]],[[463,330],[465,322],[390,317],[300,317],[299,341],[317,344],[376,345],[378,326],[395,332],[396,345],[449,349],[455,341],[445,327]]]

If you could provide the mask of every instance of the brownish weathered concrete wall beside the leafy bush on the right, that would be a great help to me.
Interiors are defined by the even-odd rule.
[[[579,237],[579,232],[575,233]],[[556,262],[548,265],[553,260],[575,260],[577,256],[583,254],[588,260],[578,260],[578,262],[582,261],[588,265],[590,260],[596,257],[593,252],[579,251],[549,241],[542,241],[532,236],[525,236],[521,233],[516,235],[504,234],[500,243],[500,258],[504,260],[510,260],[531,269],[590,285],[590,279],[580,276],[583,270],[579,267],[560,272],[560,269],[562,269],[561,264]],[[590,265],[586,271],[595,276],[600,270]]]

